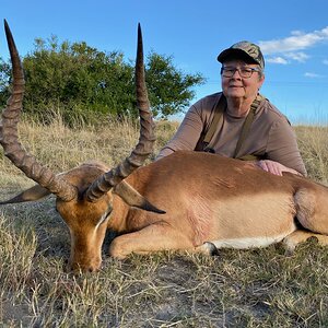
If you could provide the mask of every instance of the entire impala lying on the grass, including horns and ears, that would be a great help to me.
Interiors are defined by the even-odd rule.
[[[289,249],[309,236],[327,244],[328,189],[301,176],[276,176],[256,165],[203,152],[176,152],[142,166],[154,142],[143,75],[141,31],[136,63],[140,139],[131,155],[109,169],[98,162],[55,175],[17,140],[24,77],[5,23],[13,65],[13,92],[2,113],[4,154],[37,185],[3,201],[15,203],[50,194],[71,235],[70,268],[101,267],[106,230],[118,236],[109,254],[262,247],[284,241]]]

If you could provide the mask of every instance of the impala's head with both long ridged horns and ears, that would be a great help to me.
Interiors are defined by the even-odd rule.
[[[50,194],[55,195],[57,210],[67,223],[71,235],[70,268],[83,271],[97,270],[102,262],[101,250],[112,212],[113,192],[129,206],[161,212],[125,181],[126,177],[143,164],[152,152],[155,140],[144,82],[140,25],[138,26],[136,61],[137,106],[141,126],[138,144],[122,163],[110,171],[99,163],[86,163],[58,175],[38,163],[33,155],[26,153],[19,142],[17,122],[22,110],[25,82],[20,56],[5,21],[4,28],[13,79],[12,94],[2,112],[0,143],[5,156],[37,185],[2,204],[33,201]]]

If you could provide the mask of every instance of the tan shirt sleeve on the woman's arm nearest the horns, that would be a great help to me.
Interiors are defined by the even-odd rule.
[[[203,129],[201,112],[201,101],[199,101],[189,108],[174,137],[160,151],[156,161],[177,150],[195,150]]]

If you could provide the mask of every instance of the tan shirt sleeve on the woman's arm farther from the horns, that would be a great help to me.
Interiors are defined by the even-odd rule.
[[[297,147],[296,136],[285,118],[272,124],[267,144],[268,160],[300,172],[306,176],[306,168]]]

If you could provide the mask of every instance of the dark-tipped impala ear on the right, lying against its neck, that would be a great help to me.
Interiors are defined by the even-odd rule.
[[[139,208],[149,212],[165,214],[165,211],[157,209],[149,202],[142,195],[140,195],[132,186],[122,180],[113,190],[118,195],[128,206]]]

